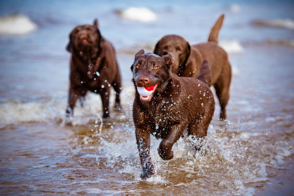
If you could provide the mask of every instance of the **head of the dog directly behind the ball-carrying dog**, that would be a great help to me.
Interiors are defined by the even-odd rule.
[[[153,52],[159,56],[162,56],[164,52],[169,52],[172,55],[172,72],[178,73],[185,66],[191,48],[183,37],[166,35],[157,42]]]

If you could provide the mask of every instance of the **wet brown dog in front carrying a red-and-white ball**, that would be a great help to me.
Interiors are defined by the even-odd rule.
[[[150,134],[162,139],[158,153],[164,160],[172,159],[173,144],[188,130],[195,137],[206,136],[215,102],[208,83],[211,68],[203,61],[197,78],[179,77],[171,72],[172,55],[140,50],[131,66],[136,88],[133,121],[142,165],[141,178],[154,174],[150,159]]]

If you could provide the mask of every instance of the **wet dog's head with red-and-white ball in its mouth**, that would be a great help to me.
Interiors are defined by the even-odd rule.
[[[168,52],[163,53],[162,57],[153,53],[145,54],[143,49],[136,53],[131,71],[141,101],[148,102],[155,92],[164,90],[170,78],[171,66],[172,55]]]

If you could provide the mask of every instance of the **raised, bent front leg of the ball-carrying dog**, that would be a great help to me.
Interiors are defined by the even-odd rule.
[[[175,124],[172,126],[169,134],[161,141],[158,147],[158,154],[164,160],[170,160],[173,158],[172,146],[181,137],[186,124]]]

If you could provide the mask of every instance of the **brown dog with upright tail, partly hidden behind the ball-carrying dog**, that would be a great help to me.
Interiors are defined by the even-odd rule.
[[[224,15],[217,20],[208,36],[207,43],[190,44],[181,36],[166,35],[155,46],[154,53],[162,56],[164,52],[172,55],[172,72],[184,77],[197,77],[201,63],[207,59],[211,63],[212,80],[221,105],[220,119],[226,119],[225,106],[229,99],[231,65],[227,53],[218,45],[218,35]]]

